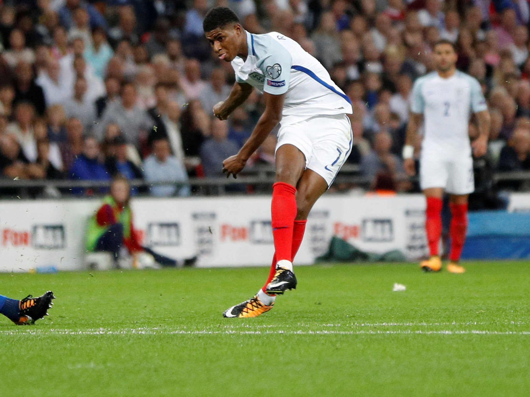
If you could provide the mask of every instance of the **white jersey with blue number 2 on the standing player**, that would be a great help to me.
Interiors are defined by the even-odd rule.
[[[420,77],[412,88],[411,111],[423,113],[423,156],[471,156],[470,113],[488,110],[479,82],[461,71],[442,78],[436,71]]]

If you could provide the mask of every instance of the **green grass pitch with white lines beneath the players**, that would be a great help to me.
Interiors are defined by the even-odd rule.
[[[297,267],[243,320],[221,313],[265,268],[0,274],[57,296],[35,326],[1,316],[0,396],[527,396],[530,263],[465,266]]]

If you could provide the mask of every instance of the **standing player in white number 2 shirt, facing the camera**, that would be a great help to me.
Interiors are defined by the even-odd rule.
[[[444,190],[451,207],[451,251],[447,270],[464,273],[458,263],[467,230],[467,198],[474,191],[473,154],[486,154],[490,115],[479,82],[456,70],[457,54],[453,43],[441,40],[434,47],[436,71],[418,78],[412,88],[407,140],[403,148],[405,170],[414,175],[414,142],[421,119],[425,134],[421,143],[420,186],[427,198],[426,232],[430,258],[421,262],[425,271],[441,269],[439,242]],[[470,144],[470,113],[476,115],[479,137]]]

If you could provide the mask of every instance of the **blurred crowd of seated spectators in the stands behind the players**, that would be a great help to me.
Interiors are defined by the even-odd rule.
[[[215,5],[253,33],[278,31],[330,71],[351,98],[349,163],[390,190],[414,80],[433,70],[432,45],[458,49],[491,112],[491,170],[530,170],[527,0],[4,0],[0,2],[0,172],[12,179],[153,184],[189,195],[189,177],[221,176],[262,110],[254,91],[227,121],[213,118],[234,83],[202,32]],[[478,133],[470,121],[470,138]],[[421,141],[417,142],[417,152]],[[272,165],[271,134],[249,161]],[[507,184],[506,188],[518,188]],[[90,194],[77,189],[74,193]]]

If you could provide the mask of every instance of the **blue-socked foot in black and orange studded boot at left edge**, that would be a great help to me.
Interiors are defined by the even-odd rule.
[[[28,295],[20,301],[0,295],[0,314],[15,324],[33,324],[48,315],[48,309],[53,305],[52,299],[55,299],[55,296],[51,291],[36,298]]]

